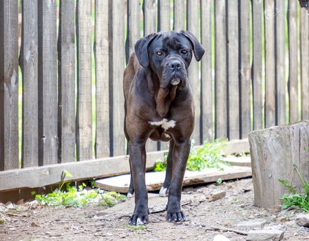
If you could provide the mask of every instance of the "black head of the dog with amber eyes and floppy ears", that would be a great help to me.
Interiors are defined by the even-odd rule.
[[[194,54],[200,61],[204,48],[189,31],[159,32],[139,39],[135,52],[142,67],[151,67],[160,80],[160,87],[187,85],[187,69]]]

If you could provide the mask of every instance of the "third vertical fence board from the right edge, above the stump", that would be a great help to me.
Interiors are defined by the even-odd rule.
[[[276,111],[277,125],[286,124],[286,25],[284,1],[275,1]]]

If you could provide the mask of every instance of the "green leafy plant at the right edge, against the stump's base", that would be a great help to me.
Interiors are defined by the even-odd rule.
[[[288,188],[289,191],[289,193],[284,193],[284,195],[280,198],[283,200],[281,208],[287,209],[288,207],[295,206],[309,213],[309,182],[303,180],[297,165],[293,165],[293,167],[297,171],[297,175],[303,184],[303,190],[305,193],[299,193],[294,185],[291,185],[284,179],[279,179],[279,182],[281,182],[284,187]]]

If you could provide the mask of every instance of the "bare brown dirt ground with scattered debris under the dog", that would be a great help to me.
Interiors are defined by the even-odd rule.
[[[209,202],[214,190],[226,191],[220,200]],[[204,185],[183,190],[182,210],[187,221],[165,220],[166,198],[149,195],[149,224],[132,228],[127,223],[134,200],[105,209],[41,207],[36,201],[23,205],[0,204],[0,240],[213,240],[221,234],[230,240],[246,240],[246,235],[228,231],[238,222],[266,221],[284,230],[284,240],[309,240],[309,229],[295,224],[296,210],[259,209],[253,205],[252,179]],[[244,231],[246,232],[246,231]]]

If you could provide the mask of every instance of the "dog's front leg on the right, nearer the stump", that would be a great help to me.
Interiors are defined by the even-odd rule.
[[[167,202],[167,221],[184,221],[184,213],[181,211],[180,199],[182,192],[182,182],[184,180],[184,171],[190,152],[190,140],[175,140],[173,149],[173,171],[171,185],[169,187],[169,200]]]

